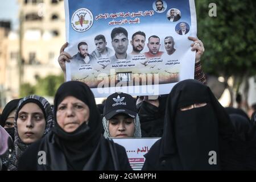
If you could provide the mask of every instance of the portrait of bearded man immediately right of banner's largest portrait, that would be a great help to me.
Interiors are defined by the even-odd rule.
[[[131,55],[141,55],[141,51],[145,46],[146,35],[142,31],[135,32],[131,37],[131,46],[133,46],[133,51]]]

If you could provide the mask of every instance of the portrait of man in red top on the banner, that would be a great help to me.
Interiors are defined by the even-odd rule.
[[[163,54],[163,51],[159,51],[160,49],[160,38],[156,35],[152,35],[148,38],[148,52],[144,53],[144,56],[149,59],[151,57],[161,57]]]

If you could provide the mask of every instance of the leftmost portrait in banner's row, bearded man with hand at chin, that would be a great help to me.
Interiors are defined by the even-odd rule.
[[[86,42],[80,42],[77,48],[77,54],[72,57],[74,63],[77,65],[91,64],[95,60],[95,57],[88,53],[88,44]]]

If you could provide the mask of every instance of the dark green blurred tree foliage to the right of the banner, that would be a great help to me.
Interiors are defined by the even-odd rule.
[[[203,69],[216,76],[256,74],[256,1],[195,1],[197,36],[203,41]],[[208,7],[216,3],[217,16]]]

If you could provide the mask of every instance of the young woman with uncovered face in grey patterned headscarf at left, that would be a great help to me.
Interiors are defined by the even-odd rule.
[[[44,137],[53,125],[52,107],[40,96],[22,98],[15,111],[14,118],[14,154],[8,169],[17,169],[18,160],[31,143]],[[25,162],[26,163],[26,162]]]

